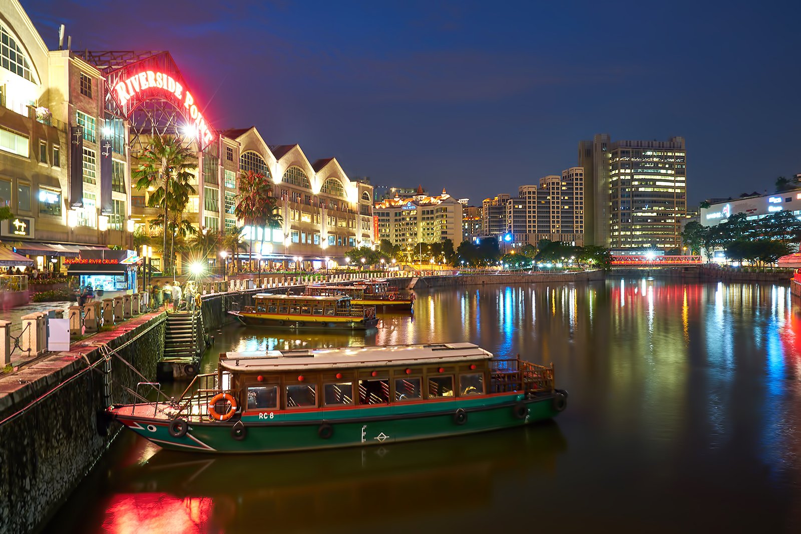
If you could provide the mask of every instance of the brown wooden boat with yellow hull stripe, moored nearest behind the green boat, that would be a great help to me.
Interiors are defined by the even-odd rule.
[[[376,326],[376,309],[353,304],[347,295],[281,295],[260,293],[256,305],[228,313],[247,326],[291,329],[366,330]]]

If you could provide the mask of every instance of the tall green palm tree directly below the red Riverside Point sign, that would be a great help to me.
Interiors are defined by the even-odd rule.
[[[162,208],[162,225],[164,221],[170,220],[170,211],[183,211],[188,201],[188,195],[193,194],[195,189],[189,185],[192,178],[191,170],[197,168],[195,154],[189,146],[183,145],[182,138],[178,136],[168,136],[166,134],[156,134],[151,138],[149,144],[139,153],[139,168],[131,173],[131,177],[136,180],[136,188],[141,191],[146,189],[150,193],[147,206],[150,208]],[[178,197],[175,196],[173,189],[177,188]],[[187,200],[181,204],[184,193]],[[169,225],[167,225],[169,227]],[[162,250],[167,250],[167,232],[162,232]],[[166,271],[167,259],[162,253]],[[172,258],[172,251],[170,253]]]

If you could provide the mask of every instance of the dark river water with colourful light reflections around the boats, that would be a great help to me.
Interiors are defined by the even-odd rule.
[[[556,369],[551,423],[363,449],[209,456],[124,431],[53,532],[799,532],[801,301],[609,279],[418,291],[368,335],[229,326],[224,350],[477,343]],[[55,529],[58,529],[56,531]]]

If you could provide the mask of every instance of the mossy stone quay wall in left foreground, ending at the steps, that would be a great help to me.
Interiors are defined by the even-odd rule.
[[[103,358],[103,346],[151,380],[165,317],[132,318],[0,378],[0,532],[41,529],[103,455],[121,430],[103,409],[108,401],[131,403],[121,386],[143,382],[119,358]]]

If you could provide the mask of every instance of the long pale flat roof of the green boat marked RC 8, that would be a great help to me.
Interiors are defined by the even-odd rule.
[[[350,346],[339,349],[268,350],[264,352],[227,352],[220,358],[221,368],[236,372],[276,372],[310,370],[418,366],[489,360],[493,354],[473,343],[437,345]]]

